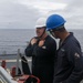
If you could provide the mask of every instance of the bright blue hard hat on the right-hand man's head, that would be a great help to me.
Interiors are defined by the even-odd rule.
[[[58,29],[65,23],[65,20],[59,14],[52,14],[46,19],[46,30]]]

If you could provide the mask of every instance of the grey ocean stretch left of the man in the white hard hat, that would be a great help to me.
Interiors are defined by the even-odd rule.
[[[35,35],[33,29],[0,29],[0,54],[23,53],[28,42]]]

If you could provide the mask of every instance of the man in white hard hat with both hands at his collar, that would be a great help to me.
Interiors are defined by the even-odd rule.
[[[45,18],[37,20],[37,37],[31,39],[25,55],[32,56],[32,74],[40,79],[40,83],[53,83],[56,42],[45,32]]]

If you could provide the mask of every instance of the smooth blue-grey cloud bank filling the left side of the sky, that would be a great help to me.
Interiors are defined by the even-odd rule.
[[[13,1],[2,2],[0,6],[0,28],[23,29],[33,28],[39,18],[38,11]]]

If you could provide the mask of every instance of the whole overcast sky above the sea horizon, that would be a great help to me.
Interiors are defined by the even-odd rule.
[[[83,29],[83,0],[0,0],[0,29],[34,29],[39,18],[54,13],[68,29]]]

